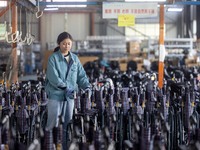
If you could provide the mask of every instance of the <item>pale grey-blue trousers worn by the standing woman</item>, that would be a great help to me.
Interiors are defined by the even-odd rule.
[[[59,116],[62,113],[64,116],[63,124],[63,150],[67,150],[67,125],[73,116],[74,100],[57,101],[49,100],[47,104],[48,117],[47,117],[47,130],[52,130],[58,127]],[[63,111],[63,112],[62,112]]]

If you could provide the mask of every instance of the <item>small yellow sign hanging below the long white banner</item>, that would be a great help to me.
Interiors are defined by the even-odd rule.
[[[132,14],[121,14],[118,15],[118,26],[134,26],[135,25],[135,16]]]

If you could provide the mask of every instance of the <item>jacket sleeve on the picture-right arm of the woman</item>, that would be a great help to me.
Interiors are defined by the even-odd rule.
[[[89,79],[78,58],[77,58],[77,62],[78,62],[77,84],[81,89],[90,88],[91,85],[90,85]]]

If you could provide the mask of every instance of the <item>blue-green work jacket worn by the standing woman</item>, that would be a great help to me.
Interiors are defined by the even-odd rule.
[[[70,99],[66,89],[77,90],[90,87],[89,79],[77,55],[70,52],[70,61],[66,61],[61,51],[54,52],[48,59],[45,90],[51,100]]]

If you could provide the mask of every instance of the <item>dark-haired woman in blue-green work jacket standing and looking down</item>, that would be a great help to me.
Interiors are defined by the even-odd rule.
[[[74,109],[74,92],[78,88],[91,95],[91,85],[86,72],[77,57],[70,50],[73,38],[62,32],[57,38],[58,47],[49,57],[46,71],[45,90],[48,96],[48,118],[46,129],[58,126],[58,118],[63,115],[63,150],[67,149],[67,124],[72,119]]]

